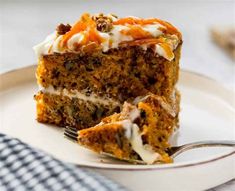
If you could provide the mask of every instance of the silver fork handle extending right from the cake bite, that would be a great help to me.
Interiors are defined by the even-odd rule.
[[[188,143],[180,147],[173,147],[172,149],[175,151],[173,152],[171,157],[174,158],[182,152],[202,147],[235,147],[235,141],[199,141]]]

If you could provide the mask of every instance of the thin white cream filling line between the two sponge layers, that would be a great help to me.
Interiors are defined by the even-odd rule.
[[[67,89],[55,90],[52,86],[49,86],[48,88],[42,88],[41,91],[43,91],[45,93],[55,94],[55,95],[67,96],[70,99],[78,98],[78,99],[82,99],[84,101],[90,101],[93,103],[101,103],[104,105],[110,105],[110,104],[120,105],[120,103],[118,101],[115,101],[111,98],[99,97],[94,93],[90,94],[90,96],[87,96],[85,93],[82,93],[83,91],[81,91],[81,92],[79,92],[77,90],[68,91]]]

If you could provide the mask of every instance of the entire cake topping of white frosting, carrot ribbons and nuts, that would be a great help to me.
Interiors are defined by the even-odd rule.
[[[40,57],[52,53],[101,49],[103,52],[122,46],[151,47],[155,53],[171,61],[174,49],[182,40],[181,33],[170,23],[157,18],[117,18],[115,15],[85,13],[71,27],[59,25],[34,50]]]

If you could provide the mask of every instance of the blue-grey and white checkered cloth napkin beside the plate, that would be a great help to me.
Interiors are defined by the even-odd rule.
[[[0,190],[124,191],[113,181],[63,163],[0,133]]]

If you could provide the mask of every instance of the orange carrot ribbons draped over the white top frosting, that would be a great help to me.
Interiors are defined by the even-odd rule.
[[[75,48],[78,47],[90,47],[88,45],[93,44],[91,47],[95,45],[101,45],[102,43],[108,43],[109,47],[112,47],[113,44],[113,39],[112,37],[112,31],[106,32],[108,38],[103,37],[101,35],[102,32],[98,31],[97,25],[100,24],[102,27],[103,24],[101,22],[102,19],[99,21],[100,23],[97,22],[97,20],[94,19],[90,14],[85,13],[81,16],[81,18],[74,24],[71,29],[66,32],[62,36],[62,40],[60,41],[60,47],[62,48],[68,48],[67,44],[68,41],[70,40],[71,37],[74,35],[80,33],[82,35],[82,38],[79,42],[74,42]],[[98,24],[97,24],[98,23]],[[162,35],[157,36],[157,38],[154,38],[154,36],[147,30],[145,30],[146,25],[155,25],[159,24],[158,27],[156,27],[157,30],[161,30],[162,33],[164,34],[170,34],[170,35],[177,35],[179,40],[182,39],[181,33],[170,23],[166,21],[162,21],[157,18],[149,18],[149,19],[142,19],[142,18],[137,18],[137,17],[126,17],[126,18],[120,18],[120,19],[111,19],[111,29],[112,27],[115,27],[115,25],[123,25],[126,26],[119,32],[123,36],[131,36],[133,40],[127,40],[127,41],[120,41],[118,43],[118,46],[138,46],[138,45],[153,45],[153,44],[159,44],[161,48],[165,52],[165,56],[167,58],[173,58],[174,53],[172,46],[166,42],[166,38]],[[110,32],[110,33],[109,33]],[[104,33],[104,32],[103,32]],[[108,42],[106,42],[108,41]]]

